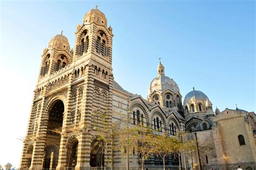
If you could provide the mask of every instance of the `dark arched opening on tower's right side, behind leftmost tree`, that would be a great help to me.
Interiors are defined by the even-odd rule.
[[[104,141],[94,140],[91,144],[90,166],[104,167]]]

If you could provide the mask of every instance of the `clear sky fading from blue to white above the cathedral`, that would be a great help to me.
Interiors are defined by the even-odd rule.
[[[256,111],[254,1],[0,1],[0,164],[18,167],[43,49],[63,30],[71,48],[87,11],[113,28],[113,74],[146,98],[165,75],[184,97],[194,87],[213,109]]]

